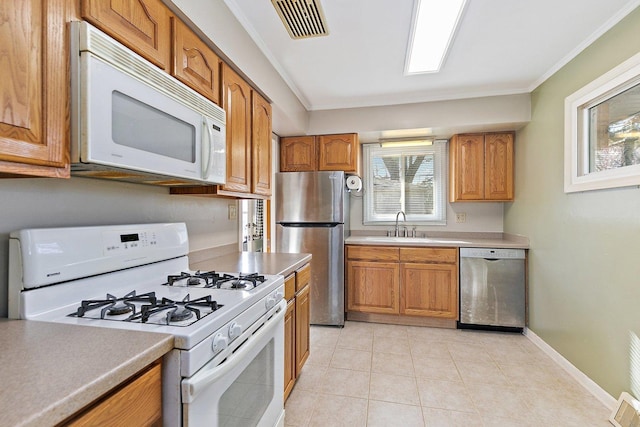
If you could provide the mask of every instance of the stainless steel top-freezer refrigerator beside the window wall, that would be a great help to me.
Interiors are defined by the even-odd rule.
[[[344,325],[344,239],[349,193],[344,172],[276,174],[276,249],[310,253],[311,324]]]

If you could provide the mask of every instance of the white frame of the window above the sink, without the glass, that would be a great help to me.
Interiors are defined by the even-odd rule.
[[[406,214],[406,223],[417,225],[446,225],[447,224],[447,185],[448,185],[448,141],[436,140],[431,145],[424,146],[395,146],[383,147],[380,143],[363,144],[363,209],[362,222],[364,225],[391,225],[393,219],[381,219],[374,215],[373,210],[373,170],[371,166],[373,155],[380,151],[401,152],[402,155],[416,154],[418,149],[425,154],[434,154],[434,214],[433,219],[416,218]],[[403,183],[404,185],[404,183]],[[405,203],[406,205],[406,203]]]

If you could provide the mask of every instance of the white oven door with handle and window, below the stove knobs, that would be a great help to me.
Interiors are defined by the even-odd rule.
[[[186,426],[268,426],[283,421],[284,301],[252,325],[228,356],[182,380]]]

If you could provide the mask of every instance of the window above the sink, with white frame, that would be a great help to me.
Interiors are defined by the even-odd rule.
[[[407,222],[446,224],[446,141],[366,144],[363,153],[365,224],[392,223],[399,211]]]

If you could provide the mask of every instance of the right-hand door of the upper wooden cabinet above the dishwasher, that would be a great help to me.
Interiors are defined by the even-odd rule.
[[[485,135],[486,200],[513,200],[513,133]]]

